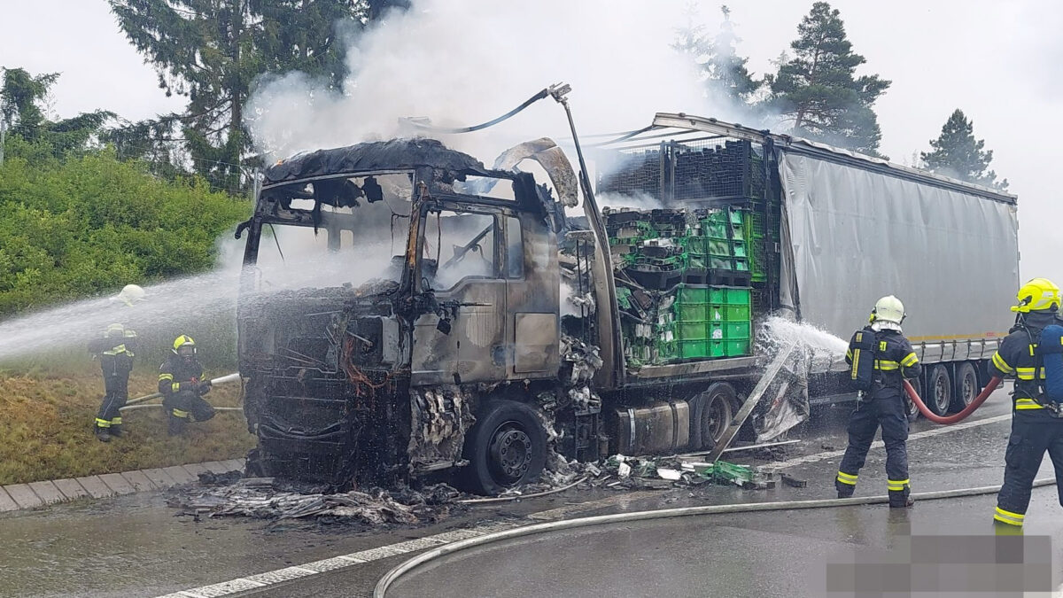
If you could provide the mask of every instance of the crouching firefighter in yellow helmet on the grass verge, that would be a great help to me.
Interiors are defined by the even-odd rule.
[[[206,421],[214,408],[203,400],[210,392],[210,381],[203,380],[203,366],[196,359],[196,342],[182,334],[173,340],[173,354],[159,368],[158,392],[168,416],[167,433],[181,435],[189,418]]]

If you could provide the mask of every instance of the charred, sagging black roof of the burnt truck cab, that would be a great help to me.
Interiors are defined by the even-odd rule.
[[[311,177],[424,166],[449,170],[454,175],[487,173],[479,161],[452,150],[436,139],[391,139],[297,154],[266,168],[263,184],[275,185]]]

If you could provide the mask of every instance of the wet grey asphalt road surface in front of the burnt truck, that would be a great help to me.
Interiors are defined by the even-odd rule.
[[[1009,408],[1007,395],[998,391],[973,419],[1003,415]],[[844,449],[847,413],[848,408],[814,412],[813,421],[802,431],[803,442],[788,450],[784,459]],[[911,441],[913,491],[999,484],[1009,428],[1005,418]],[[933,429],[938,427],[921,420],[912,426],[912,433]],[[728,460],[770,463],[742,453],[730,454]],[[873,448],[860,475],[858,496],[884,494],[883,464],[884,451]],[[568,491],[465,510],[431,526],[381,530],[315,521],[197,521],[167,506],[157,493],[53,505],[0,516],[0,567],[4,571],[0,596],[158,596],[484,522],[536,522],[527,516],[543,511],[554,513],[554,518],[571,518],[645,509],[831,498],[837,465],[838,458],[832,458],[786,468],[808,482],[805,488],[778,484],[767,491],[727,486],[701,486],[696,492]],[[1046,460],[1040,477],[1050,476]],[[847,592],[845,588],[853,587],[839,581],[853,578],[854,554],[871,563],[860,567],[878,566],[878,562],[896,567],[897,551],[902,552],[905,543],[926,544],[919,538],[976,537],[960,546],[995,542],[988,535],[992,534],[988,521],[994,503],[990,495],[923,501],[899,512],[883,505],[848,506],[553,532],[446,557],[400,580],[389,596],[862,595]],[[1035,491],[1026,534],[1027,538],[1050,536],[1052,570],[1063,570],[1063,537],[1058,537],[1063,536],[1063,509],[1056,488]],[[929,562],[926,551],[924,547],[921,552],[922,565]],[[954,553],[956,549],[939,551]],[[282,582],[246,595],[369,596],[381,576],[412,554]],[[900,561],[902,565],[904,559]],[[922,571],[925,567],[909,563],[908,569]],[[902,577],[897,569],[891,570],[893,575],[885,578]],[[983,564],[977,570],[988,569]],[[911,577],[922,579],[914,574]],[[1050,582],[1059,585],[1061,580]],[[827,593],[828,588],[839,593]]]

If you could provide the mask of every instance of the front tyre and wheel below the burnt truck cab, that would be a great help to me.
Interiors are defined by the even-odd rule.
[[[466,436],[462,481],[468,489],[496,495],[539,479],[546,464],[546,431],[530,406],[509,400],[484,405]]]

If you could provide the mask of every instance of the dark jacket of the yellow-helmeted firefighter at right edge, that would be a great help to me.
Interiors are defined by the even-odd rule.
[[[1045,368],[1036,371],[1037,362],[1033,350],[1041,338],[1041,331],[1052,323],[1063,326],[1063,320],[1056,312],[1030,312],[1012,327],[1010,334],[1000,343],[1000,348],[993,353],[990,375],[1015,378],[1015,411],[1045,409],[1039,404],[1042,402]]]

